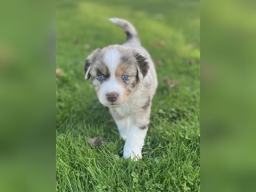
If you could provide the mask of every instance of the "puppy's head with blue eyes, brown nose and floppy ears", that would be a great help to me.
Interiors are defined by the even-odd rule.
[[[121,45],[94,50],[84,65],[85,79],[92,84],[100,103],[120,107],[148,73],[148,62],[134,50]]]

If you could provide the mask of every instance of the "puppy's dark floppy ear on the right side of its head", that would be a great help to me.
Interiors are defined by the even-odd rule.
[[[140,53],[135,52],[134,57],[137,61],[137,68],[138,68],[138,77],[139,81],[141,82],[144,77],[148,74],[149,65],[146,61],[146,58],[140,55]]]

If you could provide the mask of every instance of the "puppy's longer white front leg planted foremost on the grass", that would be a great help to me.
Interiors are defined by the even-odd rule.
[[[134,115],[124,144],[124,159],[131,157],[138,160],[142,157],[141,150],[148,131],[149,114]]]

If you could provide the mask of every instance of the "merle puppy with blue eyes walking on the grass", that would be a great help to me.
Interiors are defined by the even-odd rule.
[[[100,103],[109,108],[125,140],[123,157],[138,160],[157,87],[156,71],[132,24],[118,18],[109,20],[124,30],[126,42],[94,50],[85,60],[85,79],[92,77]]]

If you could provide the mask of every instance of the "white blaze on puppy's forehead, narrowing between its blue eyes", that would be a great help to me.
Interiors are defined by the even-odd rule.
[[[106,52],[105,63],[108,66],[110,76],[115,76],[116,67],[120,62],[120,54],[116,49],[110,49]]]

